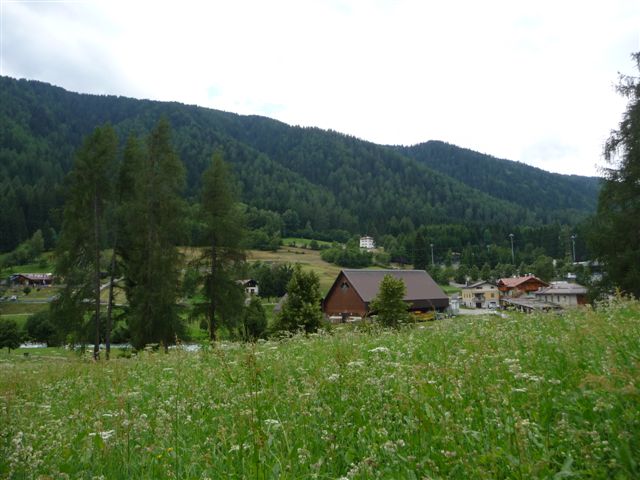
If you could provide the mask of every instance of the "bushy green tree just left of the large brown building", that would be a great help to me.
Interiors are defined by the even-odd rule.
[[[321,299],[318,274],[303,271],[296,265],[287,285],[287,299],[277,318],[276,329],[306,333],[317,331],[322,323]]]

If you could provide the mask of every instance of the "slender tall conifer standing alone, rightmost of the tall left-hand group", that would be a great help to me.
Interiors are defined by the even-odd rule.
[[[233,327],[239,320],[244,291],[234,278],[237,264],[244,260],[240,247],[244,237],[242,212],[229,166],[220,151],[213,155],[211,165],[202,174],[201,212],[204,237],[200,264],[206,269],[203,294],[206,302],[199,306],[205,313],[209,338],[216,339],[221,324]]]

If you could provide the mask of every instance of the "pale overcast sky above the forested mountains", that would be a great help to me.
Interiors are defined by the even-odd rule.
[[[638,0],[0,0],[0,74],[598,175]]]

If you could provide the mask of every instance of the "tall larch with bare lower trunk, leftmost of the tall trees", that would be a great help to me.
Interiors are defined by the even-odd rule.
[[[91,306],[94,358],[100,352],[100,256],[106,237],[105,213],[113,192],[118,138],[110,125],[96,128],[77,151],[68,177],[63,223],[56,250],[56,274],[65,287],[52,309],[63,332],[84,328]],[[86,300],[91,299],[91,302]]]

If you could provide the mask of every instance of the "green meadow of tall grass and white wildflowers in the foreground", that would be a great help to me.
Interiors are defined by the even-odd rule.
[[[640,478],[640,303],[0,354],[2,478]]]

